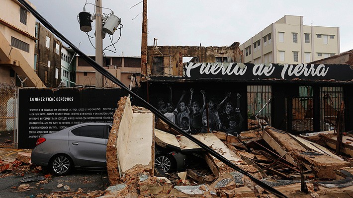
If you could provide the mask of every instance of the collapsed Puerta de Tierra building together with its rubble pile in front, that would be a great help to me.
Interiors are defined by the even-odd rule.
[[[342,155],[328,147],[330,142],[338,144],[338,128],[352,130],[351,67],[235,63],[241,60],[238,45],[147,48],[143,97],[196,140],[122,98],[107,146],[109,180],[115,185],[110,189],[117,190],[109,191],[107,198],[267,198],[269,192],[283,197],[276,191],[288,197],[303,196],[300,192],[319,197],[341,190],[340,196],[349,197],[352,136],[344,135]],[[142,131],[135,133],[136,126]],[[159,160],[157,148],[168,150],[162,155],[165,161]],[[145,157],[126,158],[125,153],[137,150]],[[191,153],[200,163],[191,160],[184,170],[164,172],[176,158],[168,156],[179,153]]]

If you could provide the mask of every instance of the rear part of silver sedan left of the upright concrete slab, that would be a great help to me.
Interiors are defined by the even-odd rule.
[[[55,175],[74,168],[106,169],[106,144],[111,124],[84,123],[44,134],[32,150],[32,163],[47,166]]]

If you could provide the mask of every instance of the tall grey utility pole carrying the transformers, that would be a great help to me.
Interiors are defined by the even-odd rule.
[[[95,0],[95,62],[103,66],[102,0]],[[95,87],[104,85],[104,78],[95,71]]]

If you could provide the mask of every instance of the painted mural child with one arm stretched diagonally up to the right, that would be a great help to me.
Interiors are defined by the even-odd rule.
[[[209,132],[212,132],[213,130],[218,131],[220,129],[220,123],[221,120],[219,118],[219,110],[221,109],[222,105],[224,102],[227,100],[228,97],[231,96],[231,93],[229,92],[227,96],[220,102],[217,107],[215,106],[215,103],[213,100],[210,100],[208,102],[208,114],[206,113],[207,111],[204,110],[202,114],[202,122],[204,126],[207,129],[209,129]],[[207,123],[207,118],[208,118],[208,123]],[[207,132],[207,130],[205,131]]]

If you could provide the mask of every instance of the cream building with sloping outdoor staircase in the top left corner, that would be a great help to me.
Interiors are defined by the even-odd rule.
[[[34,68],[35,20],[17,0],[1,0],[1,83],[12,84],[20,78],[25,86],[45,87]]]

